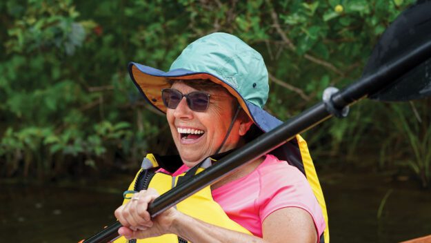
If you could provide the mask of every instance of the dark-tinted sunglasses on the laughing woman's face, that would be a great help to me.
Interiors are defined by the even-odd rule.
[[[206,111],[210,105],[210,94],[203,91],[193,91],[184,95],[174,88],[163,88],[161,97],[163,104],[170,109],[177,108],[183,97],[186,97],[187,105],[193,111]]]

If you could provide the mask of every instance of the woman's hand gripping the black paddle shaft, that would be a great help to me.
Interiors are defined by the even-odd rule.
[[[148,190],[134,193],[132,199],[115,211],[115,217],[123,225],[118,233],[127,239],[143,239],[171,233],[172,222],[178,217],[179,212],[169,208],[154,219],[148,213],[148,205],[159,194],[156,190]]]

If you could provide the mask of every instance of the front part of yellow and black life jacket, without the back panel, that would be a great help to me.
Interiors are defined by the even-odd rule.
[[[171,175],[168,175],[166,173],[157,172],[157,170],[159,170],[159,168],[164,168],[165,170],[168,169],[167,171],[174,172],[176,166],[177,168],[179,168],[179,166],[182,165],[181,160],[179,160],[179,156],[158,156],[148,154],[143,159],[141,169],[135,176],[133,182],[128,188],[128,191],[126,192],[132,193],[134,191],[141,191],[147,188],[154,188],[156,189],[157,193],[159,193],[159,195],[162,195],[177,184],[181,184],[181,182],[185,181],[189,177],[192,177],[193,175],[196,175],[197,173],[203,171],[205,168],[208,168],[212,164],[212,160],[215,159],[208,157],[199,166],[191,168],[186,173],[183,173],[176,177],[172,177]],[[126,204],[130,200],[131,196],[132,195],[127,195],[126,193],[123,204]],[[175,206],[175,208],[177,208],[177,210],[181,213],[202,220],[203,222],[207,222],[208,224],[213,224],[225,229],[230,229],[232,231],[239,231],[252,235],[252,233],[250,233],[250,231],[248,231],[247,229],[243,228],[243,226],[239,225],[233,220],[230,220],[228,215],[226,215],[226,213],[223,211],[223,208],[221,208],[221,206],[212,199],[210,186],[206,186],[206,188],[203,188],[201,191],[198,191],[197,193],[186,198],[182,202],[179,202]],[[174,234],[166,234],[158,237],[150,237],[146,239],[129,241],[126,240],[125,237],[119,237],[117,240],[114,241],[114,243],[120,242],[185,243],[187,242],[187,240],[184,240]]]

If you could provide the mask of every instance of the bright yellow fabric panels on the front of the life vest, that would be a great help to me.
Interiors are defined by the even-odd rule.
[[[197,168],[196,173],[200,173],[203,171],[206,167],[208,167],[208,163],[210,158],[208,158],[208,162],[203,162],[201,167]],[[135,176],[133,182],[130,184],[128,190],[129,191],[136,191],[137,182],[146,184],[146,182],[140,182],[139,177],[142,177],[143,174],[148,173],[148,170],[150,168],[157,168],[159,167],[158,162],[156,161],[154,155],[148,154],[146,158],[143,160],[143,168],[137,173]],[[186,173],[183,173],[177,177],[172,177],[171,175],[166,175],[165,173],[153,173],[150,175],[150,180],[148,181],[148,185],[143,185],[144,188],[154,188],[156,189],[157,193],[159,195],[162,195],[163,193],[166,193],[169,191],[173,186],[176,186],[179,179],[181,177],[184,177]],[[148,174],[147,174],[148,175]],[[148,178],[143,178],[144,180]],[[129,198],[129,197],[126,197]],[[123,201],[123,204],[126,204],[130,199],[125,199]],[[194,195],[186,198],[182,202],[179,202],[175,208],[177,208],[178,211],[181,213],[184,213],[186,215],[189,215],[191,217],[197,218],[199,220],[202,220],[203,222],[207,222],[208,224],[213,224],[216,226],[223,227],[225,229],[230,229],[232,231],[239,231],[242,233],[247,233],[249,235],[252,235],[247,229],[243,228],[243,226],[237,224],[237,222],[234,222],[233,220],[230,220],[228,215],[223,211],[223,208],[217,202],[215,202],[212,199],[211,194],[211,188],[210,186],[207,186],[206,188],[203,188],[201,191],[198,191]],[[123,243],[123,242],[129,242],[126,240],[125,237],[119,237],[117,240],[114,241],[114,243]],[[135,242],[134,240],[131,240],[130,242]],[[177,235],[174,234],[166,234],[161,235],[159,237],[150,237],[147,239],[141,239],[137,240],[137,243],[145,243],[145,242],[152,242],[152,243],[170,243],[170,242],[187,242],[186,240],[183,240],[179,238]]]

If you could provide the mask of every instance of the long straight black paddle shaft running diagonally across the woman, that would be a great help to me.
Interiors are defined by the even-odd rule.
[[[417,48],[414,48],[414,50],[405,53],[405,55],[402,55],[399,59],[392,61],[390,64],[381,66],[374,74],[363,77],[347,88],[334,93],[334,95],[331,96],[330,102],[332,102],[335,108],[341,110],[346,106],[354,104],[363,97],[367,97],[370,94],[377,93],[383,88],[387,88],[397,77],[409,72],[430,58],[431,40],[422,43],[417,46]],[[333,114],[328,111],[323,102],[312,106],[300,115],[289,119],[274,130],[257,137],[257,139],[246,144],[240,150],[236,150],[223,157],[210,168],[207,168],[205,171],[191,177],[158,197],[148,208],[150,215],[156,217],[190,195],[217,182],[222,177],[230,175],[244,164],[247,164],[247,162],[252,162],[254,159],[265,155],[265,153],[284,144],[298,133],[302,133],[320,124],[325,119],[332,117],[332,115]],[[100,233],[97,233],[97,235],[85,240],[84,243],[109,242],[115,237],[118,237],[117,231],[119,227],[121,227],[121,224],[116,222]]]

